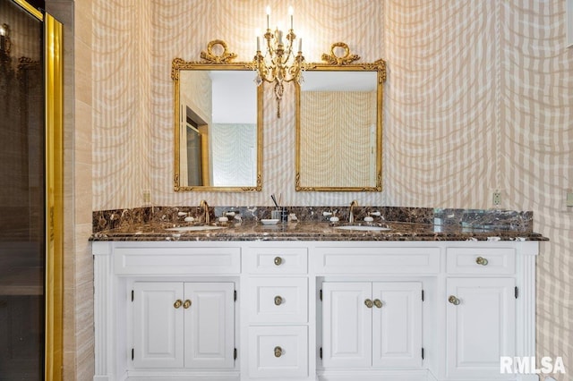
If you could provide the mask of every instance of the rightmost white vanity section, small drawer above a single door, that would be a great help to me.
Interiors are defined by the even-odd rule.
[[[504,379],[500,356],[517,356],[516,250],[449,248],[446,261],[447,375]]]

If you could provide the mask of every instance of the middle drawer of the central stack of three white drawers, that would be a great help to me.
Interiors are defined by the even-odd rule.
[[[306,278],[255,278],[249,281],[249,320],[252,323],[306,323]]]

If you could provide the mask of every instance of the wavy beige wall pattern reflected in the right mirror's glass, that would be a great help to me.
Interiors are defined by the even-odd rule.
[[[301,92],[301,184],[376,184],[376,91]]]

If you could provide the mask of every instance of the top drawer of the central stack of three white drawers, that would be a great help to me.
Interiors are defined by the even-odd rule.
[[[247,256],[250,274],[306,274],[306,248],[250,248]]]

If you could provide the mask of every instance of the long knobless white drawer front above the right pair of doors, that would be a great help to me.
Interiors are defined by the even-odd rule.
[[[316,271],[323,274],[436,274],[440,248],[319,247]]]

